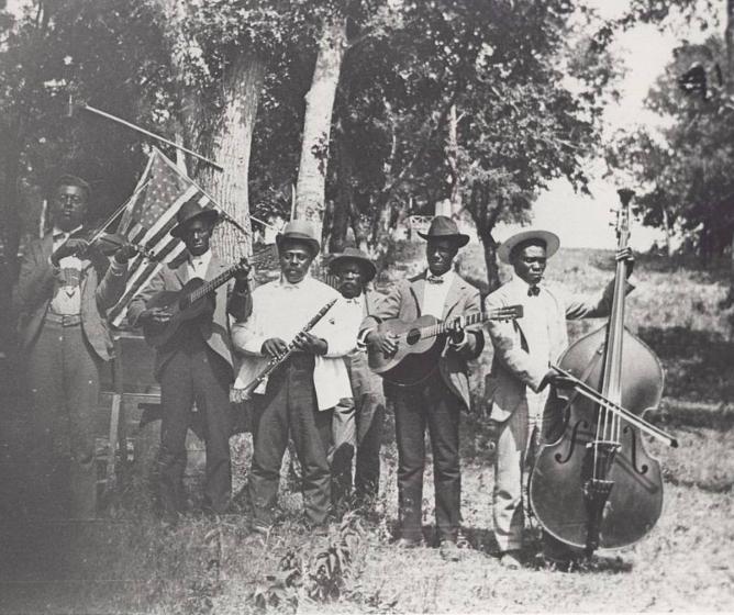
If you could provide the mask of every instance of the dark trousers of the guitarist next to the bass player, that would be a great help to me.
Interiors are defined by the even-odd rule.
[[[440,540],[456,540],[460,522],[459,399],[436,372],[419,387],[394,389],[398,499],[403,538],[419,539],[425,466],[425,428],[433,450],[436,526]]]

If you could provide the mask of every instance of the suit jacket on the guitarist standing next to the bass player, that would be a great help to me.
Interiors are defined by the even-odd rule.
[[[375,312],[362,323],[360,331],[375,327],[377,323],[388,318],[414,321],[422,314],[423,289],[425,272],[410,280],[400,280],[392,291],[382,300]],[[456,275],[452,288],[448,289],[444,303],[443,321],[456,316],[468,316],[481,312],[479,291]],[[438,369],[446,385],[464,402],[467,410],[471,402],[469,396],[469,379],[467,377],[467,360],[476,359],[485,347],[485,336],[481,329],[472,329],[468,335],[468,343],[460,353],[448,348],[443,349],[438,361]]]

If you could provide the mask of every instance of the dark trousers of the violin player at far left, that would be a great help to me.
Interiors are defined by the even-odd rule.
[[[30,349],[29,489],[36,514],[97,515],[94,414],[101,364],[81,324],[46,322]]]

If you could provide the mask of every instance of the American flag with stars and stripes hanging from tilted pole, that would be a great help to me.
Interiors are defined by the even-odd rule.
[[[108,312],[114,326],[120,326],[133,297],[151,281],[163,264],[170,262],[184,251],[184,242],[171,236],[170,230],[176,225],[178,210],[191,200],[202,206],[211,203],[196,183],[154,147],[145,172],[122,215],[118,233],[148,248],[157,261],[141,255],[131,260],[125,292]]]

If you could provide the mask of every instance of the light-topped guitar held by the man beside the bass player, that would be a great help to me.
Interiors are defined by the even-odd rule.
[[[487,321],[512,321],[522,318],[522,305],[499,308],[489,313],[476,313],[464,317],[464,326]],[[390,318],[377,326],[380,333],[391,333],[398,343],[398,350],[386,356],[377,348],[367,346],[367,360],[370,369],[388,382],[403,387],[420,384],[426,380],[438,364],[444,348],[444,337],[459,318],[446,322],[425,314],[407,323],[400,318]]]

